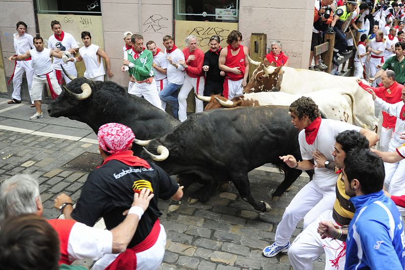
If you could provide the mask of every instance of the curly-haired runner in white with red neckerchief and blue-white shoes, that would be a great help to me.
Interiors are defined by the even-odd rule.
[[[297,161],[292,155],[282,156],[280,159],[291,168],[315,169],[315,173],[312,181],[297,193],[286,208],[276,229],[275,242],[263,249],[266,257],[288,252],[291,235],[302,218],[305,229],[322,212],[332,210],[338,178],[332,162],[335,137],[344,130],[357,130],[366,136],[370,145],[374,145],[379,139],[371,130],[342,121],[321,119],[318,106],[311,98],[301,97],[294,101],[290,105],[290,112],[291,122],[300,130],[298,141],[303,161]],[[326,157],[325,161],[322,160],[323,163],[316,158],[318,152]]]

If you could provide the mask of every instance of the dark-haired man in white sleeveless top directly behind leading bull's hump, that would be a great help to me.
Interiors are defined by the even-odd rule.
[[[100,46],[92,44],[92,36],[90,32],[82,32],[82,40],[85,44],[84,47],[79,49],[80,55],[75,58],[71,58],[68,61],[73,63],[85,61],[86,71],[85,77],[92,81],[104,81],[104,65],[103,59],[105,60],[105,67],[107,68],[108,77],[114,76],[111,72],[110,58],[104,52]]]

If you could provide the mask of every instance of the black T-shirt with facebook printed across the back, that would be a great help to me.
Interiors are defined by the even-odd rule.
[[[140,243],[149,235],[156,218],[161,215],[157,208],[158,198],[168,200],[179,188],[166,171],[153,163],[149,164],[148,169],[111,160],[95,169],[83,186],[72,218],[87,226],[94,226],[103,217],[107,230],[111,230],[125,219],[123,212],[131,207],[135,190],[151,187],[154,197],[142,215],[128,248]]]

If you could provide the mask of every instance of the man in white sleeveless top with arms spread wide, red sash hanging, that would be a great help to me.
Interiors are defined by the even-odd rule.
[[[35,49],[27,51],[24,55],[10,57],[9,60],[22,61],[27,58],[32,58],[32,67],[34,69],[34,78],[32,80],[31,96],[34,100],[36,113],[29,119],[34,120],[44,117],[41,109],[42,92],[44,85],[48,85],[52,98],[55,99],[62,89],[58,84],[52,68],[51,56],[54,58],[62,58],[60,50],[51,50],[44,48],[44,39],[41,36],[34,37]]]

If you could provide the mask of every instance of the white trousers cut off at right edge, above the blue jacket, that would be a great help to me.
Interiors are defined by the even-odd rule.
[[[388,193],[394,196],[405,194],[405,159],[395,163],[385,163],[384,185]],[[405,208],[398,207],[399,212],[405,214]]]

